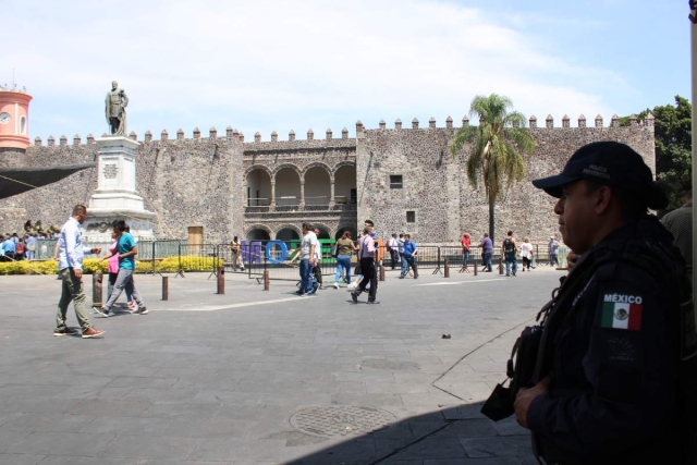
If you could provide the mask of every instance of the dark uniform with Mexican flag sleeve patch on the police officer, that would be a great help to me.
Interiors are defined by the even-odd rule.
[[[684,267],[663,255],[669,271],[647,269],[632,258],[640,243],[672,238],[652,217],[615,230],[574,266],[546,322],[535,381],[551,384],[527,423],[549,464],[697,463],[685,450],[697,444],[697,412],[680,393],[697,396],[696,370],[680,362],[678,298],[667,282]]]

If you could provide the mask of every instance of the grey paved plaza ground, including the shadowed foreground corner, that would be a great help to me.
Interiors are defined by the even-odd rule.
[[[149,315],[90,315],[94,340],[53,336],[54,276],[0,277],[0,464],[533,464],[479,408],[562,272],[456,271],[388,271],[380,305],[137,276]]]

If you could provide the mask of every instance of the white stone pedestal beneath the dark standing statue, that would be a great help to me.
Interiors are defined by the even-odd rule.
[[[113,220],[125,220],[131,234],[142,240],[155,238],[156,215],[145,209],[136,189],[137,142],[123,136],[97,139],[99,163],[97,189],[89,198],[84,236],[87,241],[109,240]]]

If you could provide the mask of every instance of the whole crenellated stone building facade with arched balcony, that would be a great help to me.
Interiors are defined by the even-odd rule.
[[[462,124],[469,124],[467,119]],[[456,129],[452,120],[427,127],[417,120],[411,127],[396,121],[378,129],[356,123],[356,137],[343,130],[334,137],[327,130],[315,137],[279,140],[272,133],[253,142],[228,127],[224,135],[211,129],[208,137],[194,130],[185,138],[167,131],[158,139],[147,132],[136,156],[136,178],[146,208],[157,213],[158,238],[186,238],[189,227],[203,227],[207,243],[241,238],[290,241],[301,235],[299,224],[310,221],[327,237],[343,230],[355,232],[364,219],[372,219],[381,235],[408,232],[421,244],[453,244],[468,231],[474,237],[488,229],[488,205],[484,189],[474,189],[466,178],[467,150],[450,155]],[[613,117],[604,125],[600,117],[591,127],[585,118],[571,127],[567,117],[554,127],[551,117],[545,127],[530,117],[529,131],[537,148],[527,161],[527,174],[497,204],[497,237],[505,230],[517,236],[543,241],[558,232],[553,201],[529,183],[559,172],[578,147],[596,140],[628,144],[655,170],[653,117],[631,120],[620,126]],[[131,137],[137,136],[132,133]],[[56,143],[39,137],[26,152],[5,149],[0,167],[46,167],[94,161],[97,144],[91,135],[83,143],[75,136]],[[0,200],[0,230],[20,231],[27,219],[60,225],[71,207],[87,203],[97,185],[95,169],[84,170],[56,184]],[[127,220],[127,218],[126,218]]]

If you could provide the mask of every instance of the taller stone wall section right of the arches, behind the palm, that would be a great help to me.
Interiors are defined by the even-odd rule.
[[[534,117],[533,117],[534,118]],[[655,171],[652,121],[620,127],[543,127],[530,134],[535,154],[527,173],[496,206],[496,240],[513,230],[517,237],[545,241],[559,233],[554,199],[533,187],[530,181],[559,173],[571,155],[585,144],[617,140],[632,146]],[[548,124],[550,120],[548,120]],[[467,149],[453,159],[449,144],[454,129],[379,129],[359,133],[357,144],[358,220],[372,219],[383,233],[411,233],[420,243],[458,243],[467,231],[481,237],[489,229],[484,186],[475,189],[466,176]],[[402,189],[390,188],[390,174],[402,174]],[[415,223],[407,223],[414,211]]]

